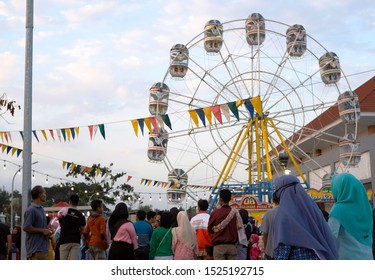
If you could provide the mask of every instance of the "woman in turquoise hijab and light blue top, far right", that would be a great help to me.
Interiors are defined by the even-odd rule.
[[[372,211],[361,181],[352,174],[332,177],[336,203],[328,224],[339,242],[340,260],[372,260]]]

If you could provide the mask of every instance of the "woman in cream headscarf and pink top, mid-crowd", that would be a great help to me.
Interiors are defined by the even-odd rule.
[[[185,211],[177,214],[177,227],[172,229],[172,250],[175,260],[194,260],[199,253],[195,231]]]

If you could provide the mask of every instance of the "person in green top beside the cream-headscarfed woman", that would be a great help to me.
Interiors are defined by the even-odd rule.
[[[160,217],[160,226],[154,229],[150,241],[150,260],[173,260],[172,227],[169,211]]]

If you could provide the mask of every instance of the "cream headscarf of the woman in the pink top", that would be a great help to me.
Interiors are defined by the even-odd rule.
[[[197,246],[195,230],[190,224],[189,218],[185,211],[177,214],[177,227],[173,228],[177,239],[185,244],[188,248],[194,249]]]

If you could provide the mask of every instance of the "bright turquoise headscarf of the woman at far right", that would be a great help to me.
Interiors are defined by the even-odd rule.
[[[331,191],[336,203],[329,217],[336,218],[358,242],[371,246],[372,210],[365,187],[350,173],[332,177]]]

